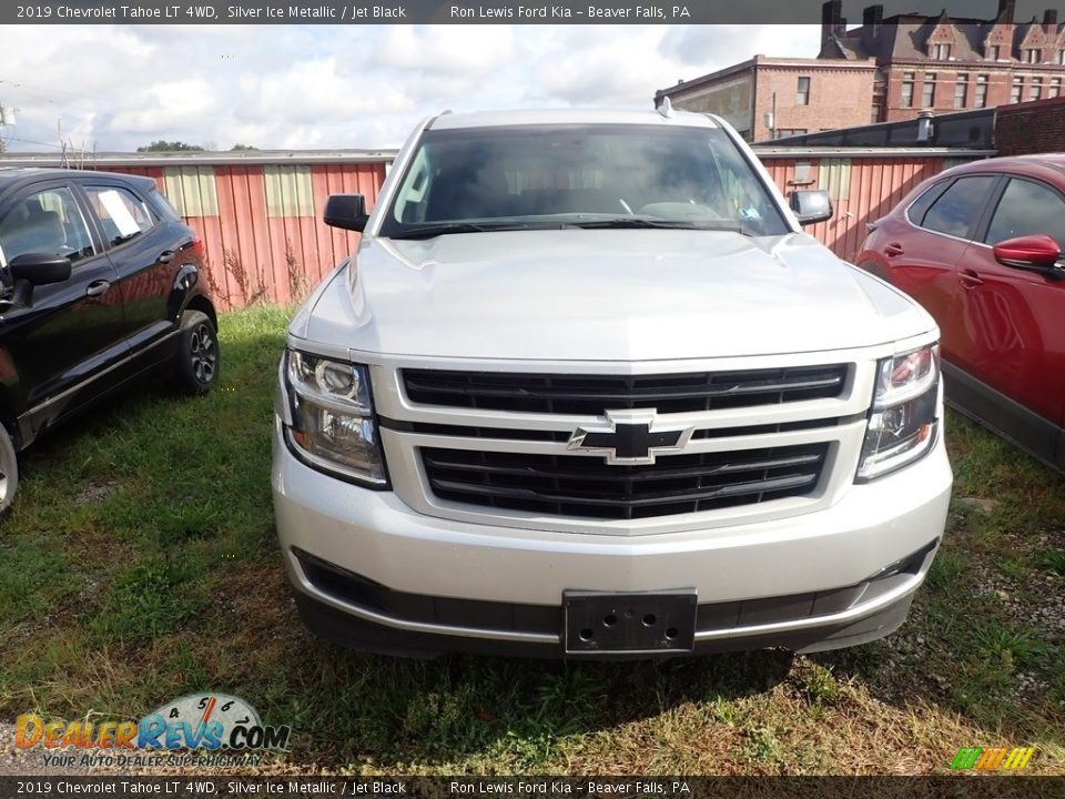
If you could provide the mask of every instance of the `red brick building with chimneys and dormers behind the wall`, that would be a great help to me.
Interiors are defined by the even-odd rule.
[[[870,6],[846,29],[842,0],[822,7],[815,59],[755,55],[656,92],[677,108],[720,113],[749,141],[814,133],[936,112],[995,108],[1062,95],[1065,24],[1014,21],[1014,0],[994,19],[942,12],[883,16]],[[769,113],[768,113],[769,112]]]

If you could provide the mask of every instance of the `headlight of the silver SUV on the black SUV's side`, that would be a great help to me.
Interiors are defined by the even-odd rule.
[[[296,454],[324,472],[387,486],[366,367],[292,350],[286,358]]]

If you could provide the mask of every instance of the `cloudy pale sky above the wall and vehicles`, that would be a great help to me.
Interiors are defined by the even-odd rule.
[[[393,148],[423,118],[651,108],[657,89],[755,53],[812,58],[819,26],[19,26],[9,151]]]

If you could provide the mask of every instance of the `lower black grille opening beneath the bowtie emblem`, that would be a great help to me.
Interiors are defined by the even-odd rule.
[[[444,499],[558,516],[635,519],[804,496],[818,485],[828,444],[659,457],[643,466],[600,457],[423,447],[433,493]]]

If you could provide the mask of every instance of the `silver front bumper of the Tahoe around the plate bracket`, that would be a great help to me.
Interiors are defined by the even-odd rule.
[[[942,436],[919,463],[784,519],[647,536],[473,525],[296,459],[275,428],[274,507],[307,625],[358,648],[561,656],[565,590],[693,588],[694,651],[813,651],[905,618],[946,519]],[[582,655],[581,657],[587,657]]]

